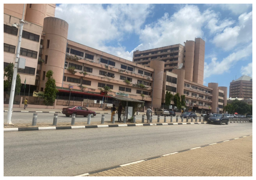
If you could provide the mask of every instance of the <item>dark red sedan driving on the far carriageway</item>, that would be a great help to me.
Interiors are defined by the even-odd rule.
[[[69,117],[72,114],[84,117],[88,116],[88,114],[91,114],[92,118],[96,116],[96,112],[88,110],[86,107],[82,106],[69,106],[67,108],[62,108],[62,114],[65,114],[67,117]]]

